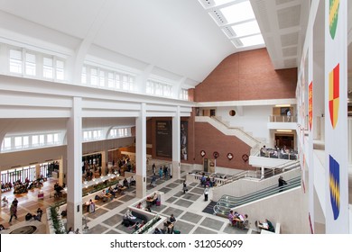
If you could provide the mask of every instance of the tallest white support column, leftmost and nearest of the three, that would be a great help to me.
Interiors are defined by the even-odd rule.
[[[67,123],[67,228],[82,230],[82,99],[73,98]]]

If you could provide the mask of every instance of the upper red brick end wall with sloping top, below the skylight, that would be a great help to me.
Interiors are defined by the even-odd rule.
[[[274,70],[266,49],[225,58],[196,86],[195,102],[294,98],[297,68]]]

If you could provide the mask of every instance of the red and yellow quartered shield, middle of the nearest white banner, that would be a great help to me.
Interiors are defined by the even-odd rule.
[[[329,114],[331,126],[335,129],[338,123],[339,108],[339,64],[329,72]]]

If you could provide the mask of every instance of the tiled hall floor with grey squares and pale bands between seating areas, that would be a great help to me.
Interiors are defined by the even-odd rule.
[[[184,178],[186,173],[181,172],[181,177]],[[148,177],[150,181],[150,176]],[[204,202],[203,189],[198,183],[188,184],[189,192],[183,194],[182,189],[183,179],[169,179],[157,180],[156,186],[153,187],[148,184],[147,194],[153,191],[160,191],[164,194],[164,202],[161,206],[153,206],[152,211],[158,212],[161,216],[170,217],[171,213],[176,217],[176,224],[174,229],[181,230],[183,234],[243,234],[247,230],[236,229],[228,225],[228,220],[209,213],[203,212],[209,202]],[[38,192],[30,192],[27,195],[19,197],[19,220],[15,220],[10,229],[5,229],[2,233],[10,233],[11,230],[20,226],[27,225],[28,221],[24,220],[24,215],[28,211],[35,211],[39,206],[46,209],[52,202],[57,201],[50,197],[50,191],[55,181],[48,181],[45,183],[43,190],[46,192],[45,200],[40,201],[36,199]],[[132,230],[125,228],[122,225],[122,217],[126,208],[137,201],[135,199],[135,189],[128,190],[125,195],[119,195],[117,198],[109,202],[97,202],[96,211],[93,213],[84,212],[87,218],[88,234],[123,234],[131,233]],[[38,189],[36,189],[38,190]],[[3,196],[6,195],[3,193]],[[7,195],[6,195],[7,196]],[[10,195],[9,195],[10,197]],[[13,195],[11,199],[13,199]],[[209,199],[211,199],[211,189],[209,192]],[[9,220],[8,208],[2,208],[1,223]],[[36,220],[30,220],[36,221]],[[39,222],[39,221],[38,221]],[[40,223],[44,225],[45,223]],[[42,233],[44,229],[37,229],[35,233]]]

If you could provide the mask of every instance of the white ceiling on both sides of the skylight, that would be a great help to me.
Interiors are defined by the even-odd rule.
[[[276,68],[297,66],[307,2],[251,0]],[[193,86],[238,51],[197,0],[0,0],[0,12],[4,30],[96,57],[110,52]]]

